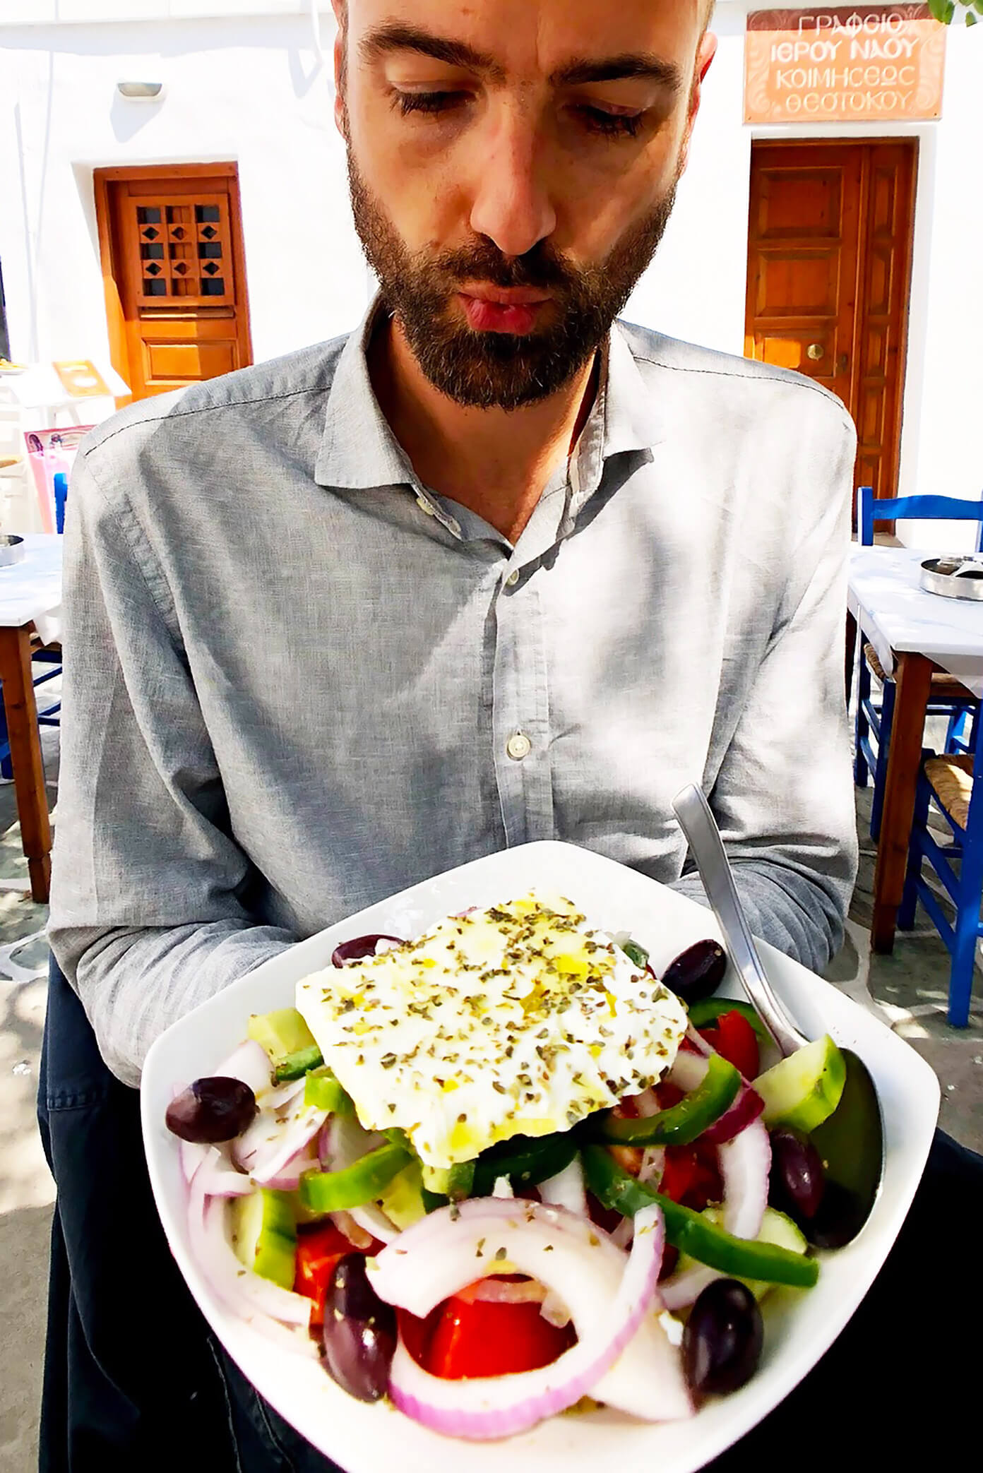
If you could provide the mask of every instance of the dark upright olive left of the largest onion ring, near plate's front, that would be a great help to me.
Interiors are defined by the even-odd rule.
[[[345,1254],[324,1299],[324,1368],[349,1396],[379,1401],[389,1389],[395,1351],[395,1309],[368,1283],[365,1255]]]

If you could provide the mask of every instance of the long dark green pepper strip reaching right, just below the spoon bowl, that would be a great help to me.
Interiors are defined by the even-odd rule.
[[[791,1284],[796,1289],[812,1289],[819,1277],[815,1258],[791,1254],[774,1243],[749,1242],[734,1237],[722,1227],[707,1223],[700,1212],[679,1206],[671,1198],[653,1192],[635,1181],[618,1165],[604,1146],[585,1146],[581,1152],[588,1190],[601,1206],[622,1217],[634,1217],[644,1206],[657,1202],[666,1220],[666,1242],[688,1254],[707,1268],[735,1279],[758,1279],[762,1283]]]

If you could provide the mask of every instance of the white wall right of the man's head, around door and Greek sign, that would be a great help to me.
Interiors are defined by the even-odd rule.
[[[983,27],[948,35],[942,118],[912,124],[747,127],[744,19],[768,6],[721,0],[718,56],[707,75],[690,169],[653,267],[626,315],[663,331],[744,351],[750,149],[766,137],[917,137],[918,194],[912,258],[908,373],[899,495],[937,492],[979,499],[983,491],[980,345],[983,289]],[[974,280],[976,278],[976,280]],[[968,548],[954,523],[902,527],[912,545]]]

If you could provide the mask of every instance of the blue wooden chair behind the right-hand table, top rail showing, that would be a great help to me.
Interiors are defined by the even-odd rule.
[[[977,552],[983,548],[983,501],[964,501],[958,496],[896,496],[890,501],[875,501],[872,488],[861,486],[856,505],[856,530],[861,545],[872,546],[874,521],[889,518],[976,521],[979,524]],[[895,681],[883,670],[874,647],[864,642],[862,632],[859,645],[853,781],[858,788],[865,788],[868,775],[871,772],[874,775],[871,838],[877,840],[884,807],[890,729],[895,719]],[[871,692],[871,673],[880,682],[880,701]],[[965,756],[973,750],[976,735],[973,725],[979,719],[979,701],[961,681],[943,670],[934,672],[927,714],[948,717],[946,753]]]

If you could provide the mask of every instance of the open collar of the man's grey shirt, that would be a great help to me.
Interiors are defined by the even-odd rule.
[[[367,491],[374,486],[417,486],[408,455],[398,443],[368,377],[368,343],[380,311],[376,298],[361,326],[342,348],[327,398],[324,435],[314,464],[320,486]],[[597,489],[612,455],[650,449],[662,426],[623,328],[615,323],[604,348],[601,383],[572,461],[573,504]]]

